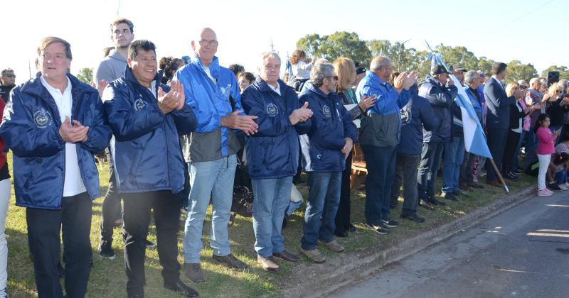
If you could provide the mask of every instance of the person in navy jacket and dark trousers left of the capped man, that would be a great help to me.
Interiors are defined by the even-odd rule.
[[[417,215],[417,167],[421,157],[422,130],[425,128],[425,131],[432,131],[439,126],[440,121],[432,111],[429,101],[418,95],[417,85],[413,85],[409,91],[411,99],[401,109],[401,141],[397,150],[391,202],[397,202],[403,181],[401,218],[422,223],[425,219]]]

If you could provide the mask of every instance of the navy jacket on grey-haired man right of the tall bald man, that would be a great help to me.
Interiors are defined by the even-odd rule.
[[[299,159],[298,135],[308,133],[310,119],[292,126],[289,115],[300,101],[292,87],[278,81],[277,94],[260,77],[245,91],[241,100],[248,115],[257,116],[259,131],[248,137],[247,150],[251,179],[273,179],[296,174]]]

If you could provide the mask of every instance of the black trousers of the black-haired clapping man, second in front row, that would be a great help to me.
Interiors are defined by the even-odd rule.
[[[127,294],[144,296],[144,257],[150,223],[150,209],[154,209],[158,256],[165,283],[179,280],[178,231],[180,227],[180,200],[170,191],[122,194],[124,202],[122,237],[124,263],[127,270]]]

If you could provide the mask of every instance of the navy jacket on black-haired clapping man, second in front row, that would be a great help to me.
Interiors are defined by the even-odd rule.
[[[170,88],[156,75],[156,89]],[[112,128],[111,152],[119,193],[184,189],[184,158],[179,135],[196,129],[196,116],[184,109],[162,114],[154,94],[137,82],[127,67],[102,95]]]

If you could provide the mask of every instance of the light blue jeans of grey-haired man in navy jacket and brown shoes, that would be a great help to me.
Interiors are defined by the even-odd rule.
[[[263,258],[285,250],[282,220],[290,202],[292,176],[277,179],[253,179],[253,231],[255,251]]]

